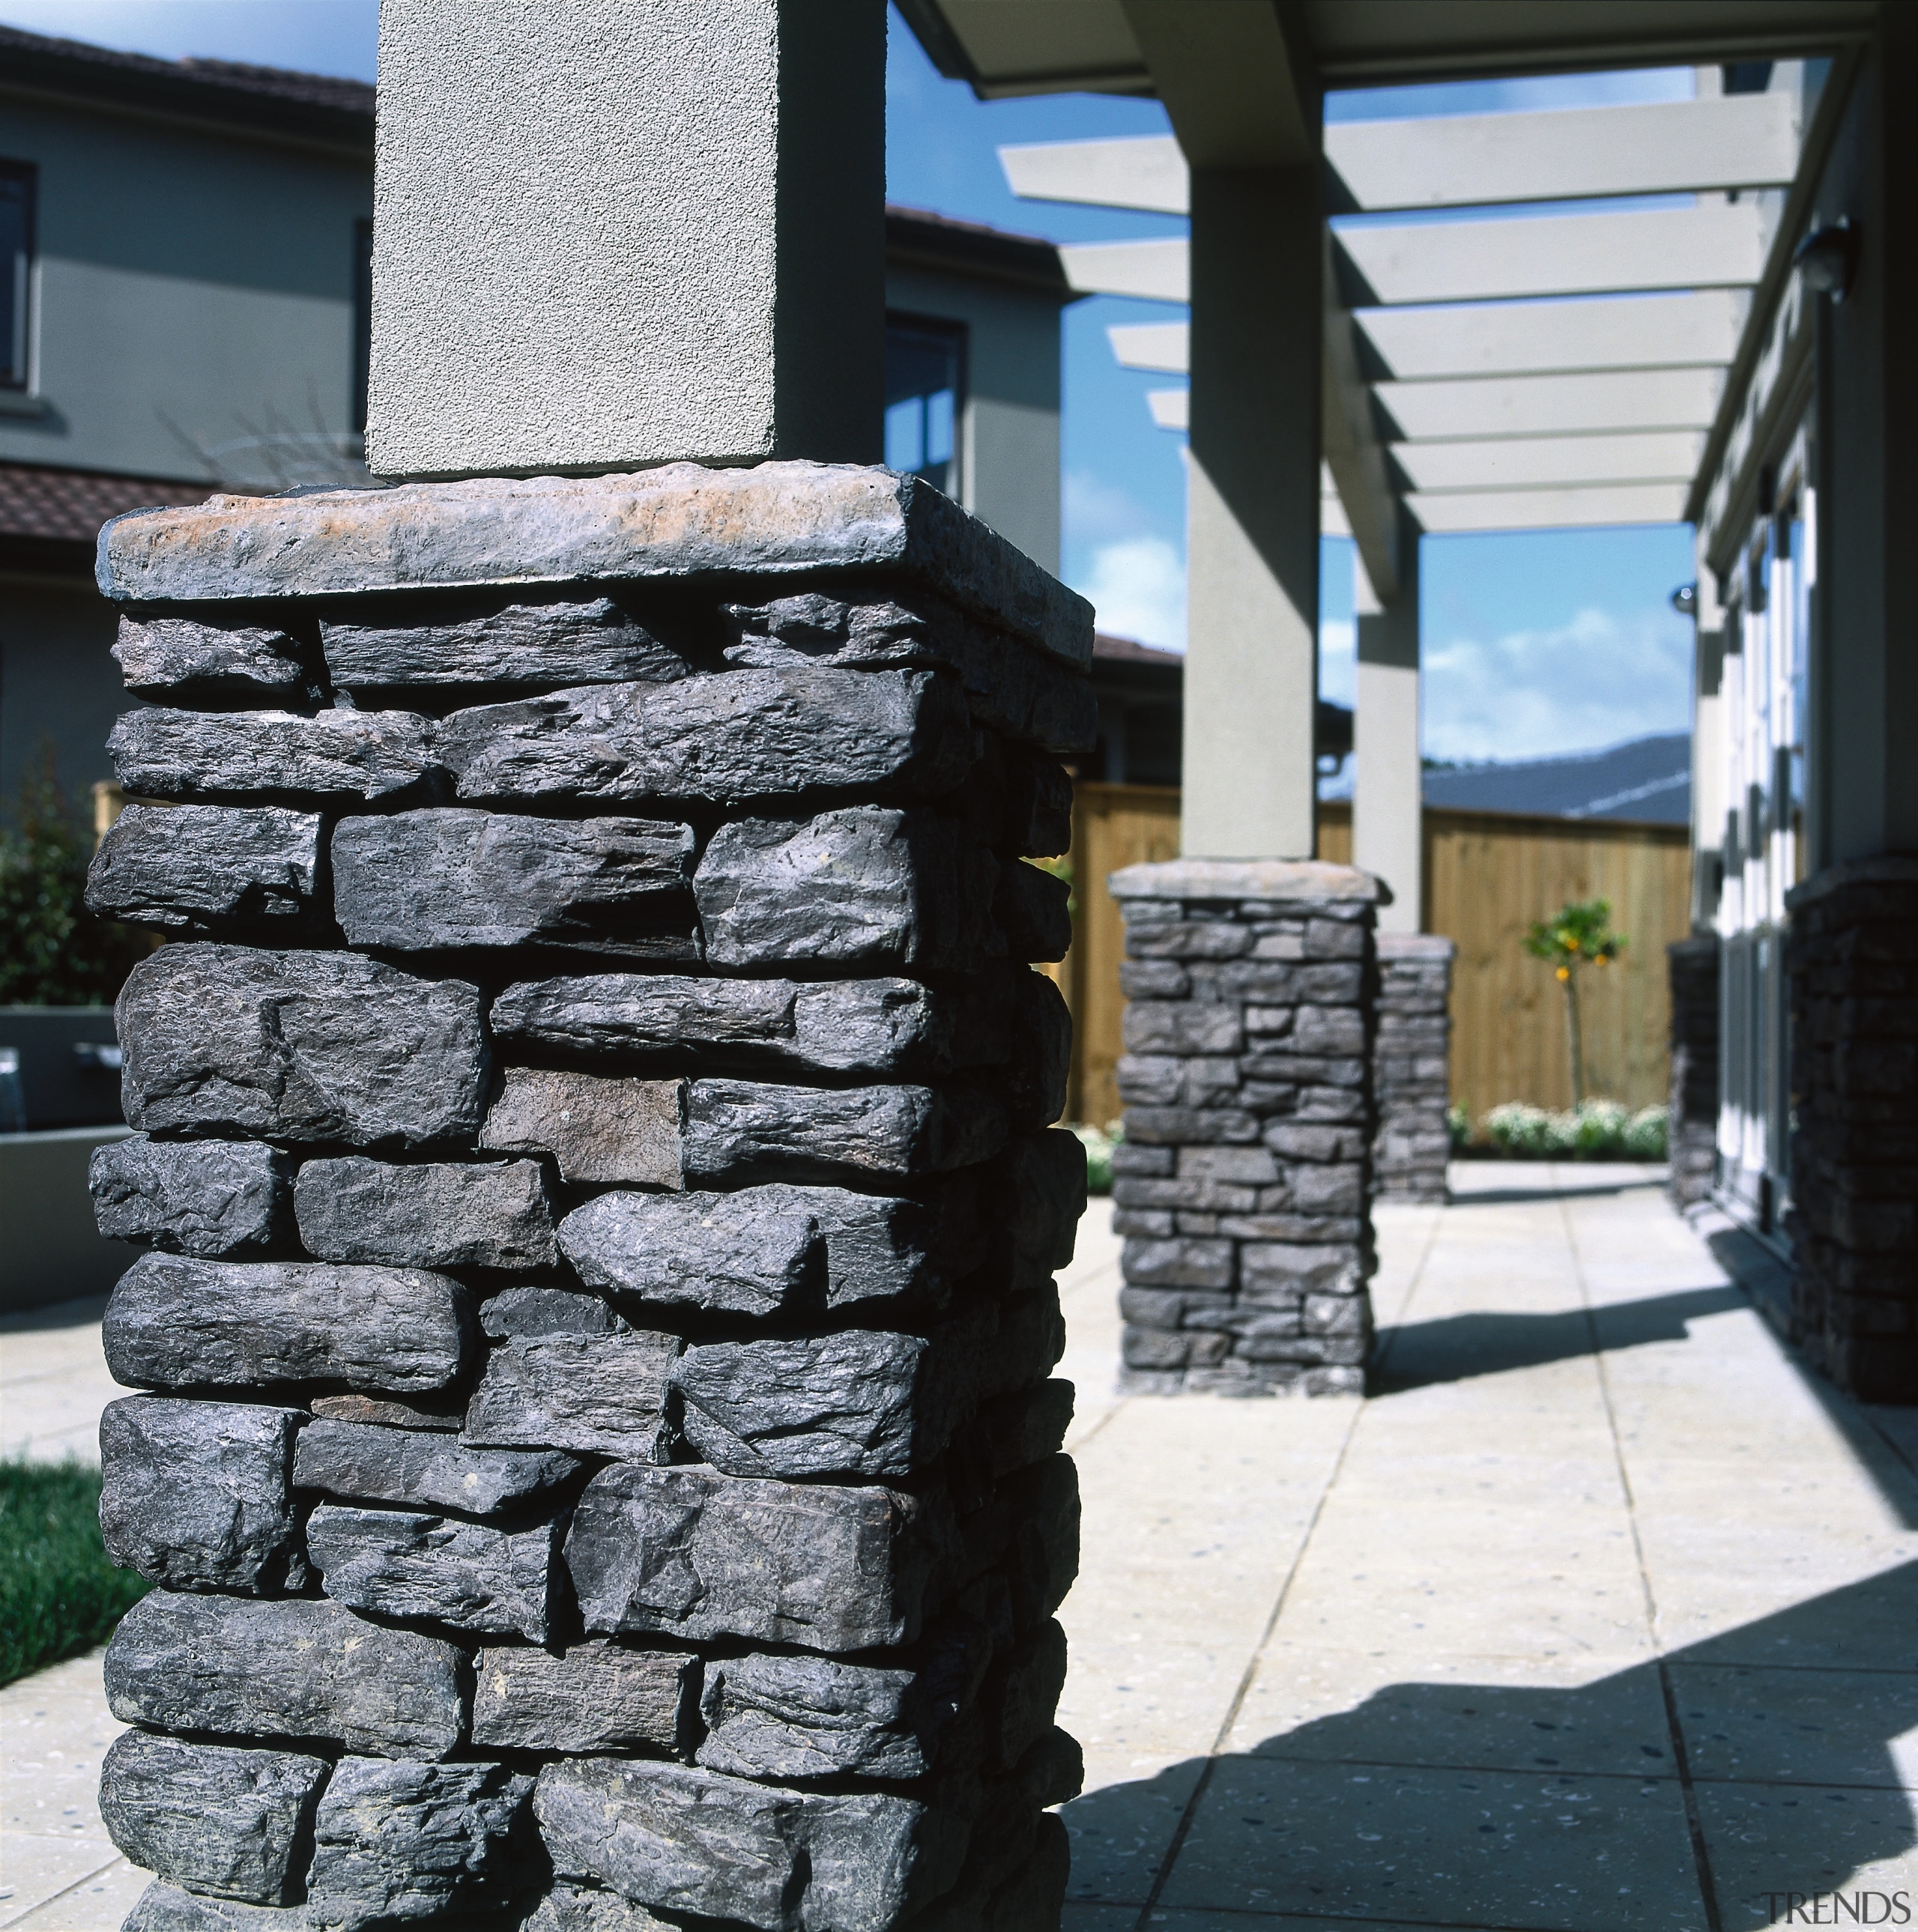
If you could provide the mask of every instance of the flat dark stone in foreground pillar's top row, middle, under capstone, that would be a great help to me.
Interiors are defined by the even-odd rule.
[[[326,676],[340,690],[419,686],[666,684],[686,659],[610,597],[506,605],[450,624],[332,624],[321,618]]]

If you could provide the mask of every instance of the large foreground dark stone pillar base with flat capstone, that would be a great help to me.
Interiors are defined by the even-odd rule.
[[[809,464],[100,558],[127,1924],[1055,1932],[1089,609]]]

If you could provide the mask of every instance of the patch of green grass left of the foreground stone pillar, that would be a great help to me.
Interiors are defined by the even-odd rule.
[[[100,1542],[100,1472],[0,1463],[0,1685],[106,1640],[147,1594]]]

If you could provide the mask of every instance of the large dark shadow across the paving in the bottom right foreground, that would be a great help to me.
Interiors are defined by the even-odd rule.
[[[1862,1888],[1860,1922],[1910,1922],[1889,1901],[1918,1909],[1918,1870],[1852,1878],[1918,1845],[1891,1752],[1918,1729],[1914,1625],[1908,1563],[1576,1689],[1389,1685],[1076,1799],[1068,1897],[1248,1932],[1246,1913],[1742,1932],[1791,1893],[1814,1922],[1804,1899]]]

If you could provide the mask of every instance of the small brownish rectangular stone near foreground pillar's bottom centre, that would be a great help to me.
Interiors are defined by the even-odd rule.
[[[481,1650],[473,1743],[485,1750],[676,1752],[691,1735],[699,1658],[593,1636],[560,1656]]]

